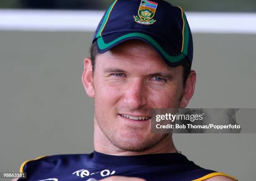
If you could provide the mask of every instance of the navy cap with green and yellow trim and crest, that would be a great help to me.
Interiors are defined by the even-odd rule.
[[[103,15],[93,37],[97,51],[105,53],[130,39],[152,46],[166,64],[192,64],[193,41],[182,8],[164,0],[115,0]]]

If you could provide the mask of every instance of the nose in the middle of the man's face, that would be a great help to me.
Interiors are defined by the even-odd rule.
[[[131,110],[147,105],[146,85],[143,80],[136,79],[128,84],[124,102]]]

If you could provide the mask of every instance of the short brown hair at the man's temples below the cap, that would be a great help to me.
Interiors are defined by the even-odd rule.
[[[90,48],[90,55],[92,60],[92,72],[95,69],[95,58],[98,55],[96,41],[92,43]],[[183,66],[183,86],[185,86],[189,72],[191,71],[191,65],[188,60],[185,60],[181,64]]]

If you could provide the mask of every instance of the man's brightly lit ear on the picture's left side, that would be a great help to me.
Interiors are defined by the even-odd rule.
[[[89,97],[94,97],[92,60],[89,57],[84,59],[84,71],[82,74],[84,89]]]

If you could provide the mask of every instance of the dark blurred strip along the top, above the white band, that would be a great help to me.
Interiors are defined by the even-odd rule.
[[[166,0],[186,11],[256,12],[255,0]],[[0,8],[105,10],[109,0],[1,0]]]

